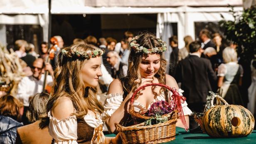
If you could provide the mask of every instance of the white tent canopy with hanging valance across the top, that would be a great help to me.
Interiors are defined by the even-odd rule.
[[[243,8],[242,0],[52,0],[52,14],[143,14],[157,13],[157,35],[161,37],[164,22],[177,22],[179,46],[183,37],[194,37],[194,22],[232,20],[227,5]],[[194,7],[192,7],[194,6]],[[206,7],[207,6],[207,7]],[[2,0],[0,24],[40,24],[44,40],[48,39],[48,0]],[[1,28],[1,27],[0,27]],[[0,29],[5,30],[4,27]],[[2,42],[2,41],[0,41]]]

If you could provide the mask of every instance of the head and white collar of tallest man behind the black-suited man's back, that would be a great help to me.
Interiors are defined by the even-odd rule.
[[[202,40],[202,49],[207,47],[215,47],[215,44],[210,39],[210,32],[207,29],[202,29],[199,33],[199,38]]]

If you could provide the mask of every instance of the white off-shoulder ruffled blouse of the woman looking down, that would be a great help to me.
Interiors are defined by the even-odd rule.
[[[182,93],[184,92],[182,89],[178,90],[179,94],[182,95]],[[170,103],[170,97],[172,96],[172,92],[168,92],[168,103]],[[106,100],[105,103],[103,105],[104,107],[104,112],[106,117],[110,117],[117,109],[118,107],[120,107],[121,103],[123,102],[123,93],[111,93],[109,95],[105,95]],[[152,103],[159,101],[159,100],[165,100],[165,95],[164,93],[161,93],[160,95],[158,95]],[[148,106],[148,109],[150,108],[151,104]],[[192,111],[187,107],[187,102],[185,101],[184,103],[181,104],[182,105],[182,110],[184,115],[190,115],[192,114]],[[133,106],[134,106],[134,111],[135,112],[139,112],[141,109],[146,109],[146,107],[144,105],[142,105],[141,103],[139,103],[137,100],[134,100],[133,102]]]

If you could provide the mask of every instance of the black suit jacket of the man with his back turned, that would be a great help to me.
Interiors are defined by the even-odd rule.
[[[189,55],[178,64],[175,79],[181,83],[187,103],[205,103],[212,90],[210,83],[217,80],[217,75],[208,59]]]

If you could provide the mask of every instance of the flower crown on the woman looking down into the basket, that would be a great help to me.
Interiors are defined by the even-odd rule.
[[[154,47],[151,49],[147,49],[143,46],[140,46],[140,44],[137,44],[138,36],[133,37],[133,39],[130,41],[130,47],[135,50],[135,53],[143,52],[144,54],[153,54],[153,53],[160,53],[167,50],[165,41],[162,41],[161,39],[157,39],[160,43],[160,47]]]

